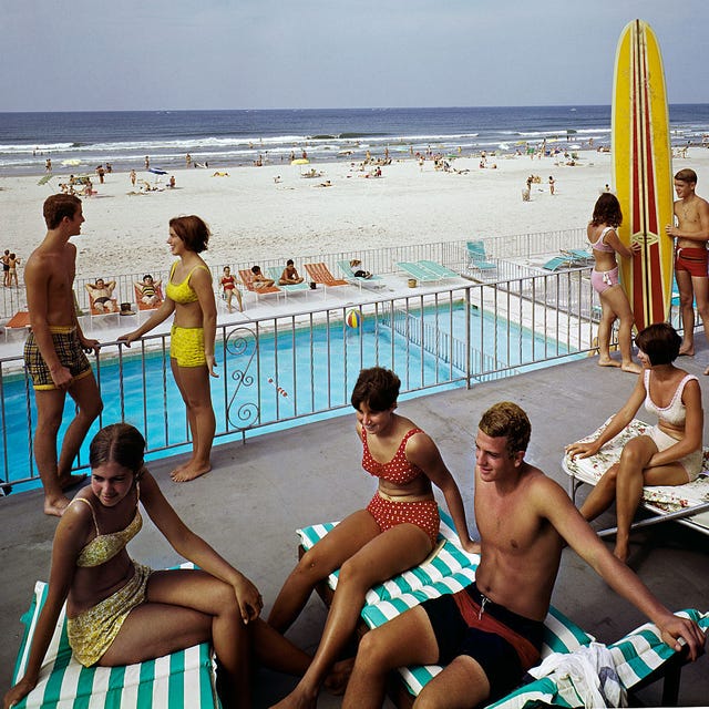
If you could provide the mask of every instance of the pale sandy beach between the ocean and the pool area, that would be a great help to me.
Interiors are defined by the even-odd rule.
[[[561,160],[559,160],[561,158]],[[331,162],[299,167],[219,167],[175,171],[176,187],[165,188],[169,175],[150,177],[157,191],[135,194],[127,173],[94,179],[97,194],[84,198],[86,222],[79,248],[78,277],[112,277],[166,268],[167,222],[181,214],[198,214],[212,227],[208,263],[217,266],[263,258],[298,258],[299,254],[331,253],[382,245],[489,238],[551,232],[585,225],[598,194],[612,184],[612,156],[579,152],[576,165],[559,158],[527,156],[451,161],[451,172],[436,171],[432,161],[414,160],[382,167],[382,177],[367,177],[359,164]],[[496,165],[496,167],[492,167]],[[675,169],[692,167],[698,194],[706,193],[709,152],[690,148]],[[318,177],[301,172],[315,168]],[[522,201],[526,178],[538,175],[530,202]],[[555,194],[549,193],[549,175]],[[38,185],[34,177],[0,177],[3,234],[0,247],[24,260],[43,238],[42,203],[68,174]],[[321,186],[328,184],[329,186]],[[131,194],[133,193],[133,194]]]

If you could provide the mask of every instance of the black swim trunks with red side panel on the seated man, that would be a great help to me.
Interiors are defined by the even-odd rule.
[[[460,594],[467,594],[470,600],[483,608],[480,614],[480,625],[487,629],[475,627],[477,625],[475,621],[474,625],[469,625],[455,600],[455,596]],[[487,677],[490,701],[510,693],[520,685],[524,672],[535,662],[527,662],[525,667],[512,643],[497,633],[490,631],[489,623],[482,623],[485,616],[487,616],[485,620],[502,624],[507,631],[525,638],[536,650],[538,659],[544,624],[525,618],[484,598],[475,584],[463,588],[458,594],[445,594],[439,598],[425,600],[421,607],[427,612],[439,645],[439,664],[448,665],[461,655],[472,657]]]

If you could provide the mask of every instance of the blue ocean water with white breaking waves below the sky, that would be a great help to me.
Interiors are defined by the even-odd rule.
[[[701,144],[709,104],[670,106],[672,144]],[[269,111],[116,111],[0,113],[0,176],[185,166],[189,153],[210,168],[288,163],[306,151],[311,162],[392,158],[417,152],[508,153],[543,140],[562,147],[608,145],[610,106],[444,109],[312,109]]]

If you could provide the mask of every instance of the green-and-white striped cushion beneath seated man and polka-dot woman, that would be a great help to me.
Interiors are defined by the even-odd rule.
[[[310,548],[322,538],[337,523],[318,524],[297,534],[305,548]],[[438,556],[400,576],[389,579],[370,589],[361,616],[370,628],[376,628],[397,615],[422,603],[427,598],[436,598],[442,594],[455,593],[470,585],[475,578],[479,556],[466,554],[460,546],[450,516],[441,511],[440,540],[445,544]],[[330,588],[337,586],[337,572],[328,578]],[[696,610],[681,612],[697,620],[701,627],[709,627],[709,614]],[[582,645],[595,640],[575,623],[556,608],[551,607],[544,620],[544,639],[542,657],[552,653],[573,653]],[[650,623],[628,634],[609,646],[616,669],[623,685],[629,689],[650,675],[662,662],[674,655],[674,650],[665,645],[657,627]],[[441,671],[438,665],[425,667],[403,667],[399,674],[409,691],[417,696],[423,686]],[[568,706],[558,695],[553,680],[542,678],[511,692],[493,705],[495,708],[522,708],[527,701]]]

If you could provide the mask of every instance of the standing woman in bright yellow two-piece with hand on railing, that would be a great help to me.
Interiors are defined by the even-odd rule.
[[[210,454],[216,430],[209,377],[215,371],[214,343],[217,329],[217,308],[212,289],[212,273],[202,259],[209,242],[209,228],[198,216],[175,217],[169,220],[167,244],[178,257],[171,268],[165,299],[153,315],[136,330],[119,340],[130,347],[171,315],[169,364],[187,408],[192,432],[192,458],[172,471],[175,482],[186,482],[212,470]]]

